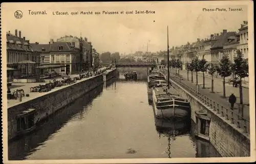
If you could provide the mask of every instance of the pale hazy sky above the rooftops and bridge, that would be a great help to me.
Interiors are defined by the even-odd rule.
[[[169,46],[180,46],[204,39],[210,34],[238,31],[248,20],[248,2],[117,2],[117,3],[3,3],[2,28],[14,34],[22,31],[22,37],[30,42],[48,43],[65,35],[87,37],[97,52],[166,51],[167,26]],[[220,5],[222,4],[222,5]],[[227,11],[206,12],[206,9],[225,8]],[[242,8],[243,11],[229,11]],[[23,17],[15,18],[16,10]],[[31,11],[46,11],[47,15],[31,15]],[[135,14],[138,11],[155,11],[155,14]],[[69,15],[53,15],[53,12]],[[92,11],[92,15],[80,15]],[[102,11],[118,11],[119,14],[103,14]],[[124,14],[120,14],[123,11]],[[133,14],[126,14],[133,11]],[[72,15],[71,12],[79,12]],[[101,12],[96,15],[95,12]]]

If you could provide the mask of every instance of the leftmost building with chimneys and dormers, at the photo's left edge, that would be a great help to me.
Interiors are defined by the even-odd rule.
[[[36,77],[40,52],[34,50],[29,40],[22,37],[21,31],[15,30],[14,33],[9,31],[6,34],[8,81],[13,78]]]

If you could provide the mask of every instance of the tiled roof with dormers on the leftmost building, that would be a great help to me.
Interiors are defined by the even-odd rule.
[[[7,38],[7,50],[16,50],[16,51],[29,51],[34,52],[32,46],[26,42],[23,38],[19,38],[12,34],[6,34]]]

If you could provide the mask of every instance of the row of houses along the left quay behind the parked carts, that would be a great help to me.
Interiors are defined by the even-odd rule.
[[[32,68],[35,64],[58,74],[73,74],[82,69],[85,71],[93,68],[94,58],[99,56],[92,42],[86,37],[66,35],[56,41],[50,39],[49,43],[31,43],[22,37],[21,31],[17,30],[14,35],[10,31],[7,32],[6,37],[7,66],[22,70],[20,67],[25,67],[25,64],[30,65],[23,71],[26,74],[33,73]]]

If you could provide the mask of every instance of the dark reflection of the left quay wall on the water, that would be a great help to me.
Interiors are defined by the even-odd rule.
[[[103,85],[91,90],[65,108],[52,114],[47,120],[41,122],[35,132],[8,143],[9,160],[26,159],[25,157],[38,150],[39,146],[44,147],[45,141],[51,139],[53,134],[65,126],[70,119],[82,120],[86,115],[84,113],[90,110],[88,106],[91,105],[94,98],[101,95],[102,89]],[[73,115],[76,115],[76,117],[72,118]]]

